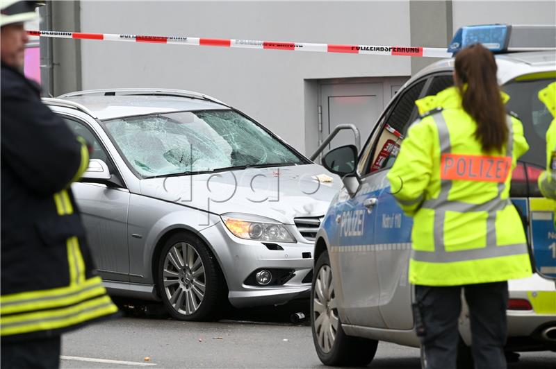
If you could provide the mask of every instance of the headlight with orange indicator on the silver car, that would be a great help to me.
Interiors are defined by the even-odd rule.
[[[226,228],[240,239],[271,242],[295,242],[282,223],[250,214],[222,214]]]

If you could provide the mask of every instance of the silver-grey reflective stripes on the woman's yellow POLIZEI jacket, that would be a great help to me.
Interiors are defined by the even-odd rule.
[[[450,132],[444,120],[442,112],[432,114],[439,132],[441,155],[452,151],[450,144]],[[508,141],[506,145],[506,156],[513,157],[514,133],[512,119],[507,117]],[[527,253],[525,243],[515,245],[498,246],[496,244],[496,212],[512,205],[509,200],[502,200],[500,196],[505,189],[505,181],[498,183],[498,195],[496,198],[482,204],[464,203],[461,201],[448,200],[452,180],[441,179],[441,191],[438,198],[425,200],[421,206],[423,209],[434,209],[434,252],[411,250],[411,259],[430,263],[447,263],[453,261],[468,261],[475,259],[487,259],[490,257],[502,257],[509,255],[520,255]],[[447,251],[444,241],[444,222],[446,212],[487,212],[486,218],[486,247],[473,248],[470,250]]]

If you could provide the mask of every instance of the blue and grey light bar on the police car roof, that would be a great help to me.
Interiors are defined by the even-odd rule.
[[[556,50],[556,25],[464,26],[455,33],[448,52],[457,53],[469,45],[479,43],[493,53]]]

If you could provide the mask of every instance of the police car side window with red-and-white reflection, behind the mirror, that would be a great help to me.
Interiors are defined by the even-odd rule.
[[[382,123],[382,132],[379,133],[377,143],[373,146],[372,159],[368,161],[366,168],[361,171],[361,175],[391,168],[394,164],[404,137],[402,132],[407,130],[409,123],[414,121],[417,115],[415,101],[419,98],[424,86],[425,80],[421,80],[402,91],[398,101],[395,102],[394,108],[386,115],[386,119]]]

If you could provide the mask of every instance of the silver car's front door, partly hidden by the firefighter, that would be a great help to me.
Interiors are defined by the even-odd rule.
[[[92,146],[90,159],[106,162],[111,174],[122,182],[106,146],[92,127],[78,117],[63,116],[63,119],[76,135],[83,137]],[[107,184],[75,182],[72,191],[81,211],[88,244],[99,274],[104,280],[129,281],[129,190]]]

